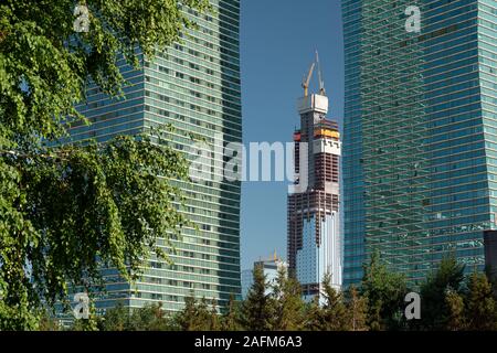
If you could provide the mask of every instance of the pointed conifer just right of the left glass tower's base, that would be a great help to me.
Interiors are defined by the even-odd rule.
[[[262,266],[254,267],[254,284],[242,306],[242,324],[250,331],[272,329],[275,304],[267,293],[268,286]]]

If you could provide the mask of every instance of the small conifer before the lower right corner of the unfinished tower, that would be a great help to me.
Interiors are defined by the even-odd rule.
[[[348,331],[350,330],[347,307],[343,302],[341,291],[331,286],[331,275],[326,274],[322,280],[322,297],[325,302],[322,304],[322,320],[321,330],[325,331]]]

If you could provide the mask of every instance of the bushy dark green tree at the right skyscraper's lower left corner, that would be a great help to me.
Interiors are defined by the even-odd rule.
[[[402,328],[403,303],[408,292],[405,278],[393,274],[381,263],[380,254],[373,253],[364,266],[361,296],[368,300],[368,327],[373,330]]]

